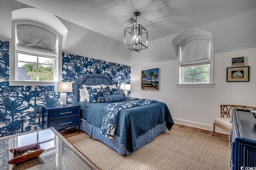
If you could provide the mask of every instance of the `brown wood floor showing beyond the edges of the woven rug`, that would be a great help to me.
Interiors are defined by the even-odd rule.
[[[186,125],[182,125],[182,124],[174,124],[173,127],[181,128],[181,129],[189,130],[189,131],[193,131],[193,132],[198,132],[198,133],[206,134],[206,135],[212,134],[212,131],[210,131],[210,130],[194,128],[194,127],[186,126]],[[84,132],[81,131],[80,133],[84,133]],[[71,136],[76,136],[79,133],[78,133],[78,130],[61,130],[60,134],[62,134],[62,136],[64,136],[65,138],[69,138]],[[222,133],[215,132],[213,136],[217,137],[217,138],[228,140],[228,134],[222,134]]]

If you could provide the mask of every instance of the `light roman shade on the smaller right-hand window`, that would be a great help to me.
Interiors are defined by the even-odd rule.
[[[210,40],[196,39],[180,46],[180,66],[210,64]]]

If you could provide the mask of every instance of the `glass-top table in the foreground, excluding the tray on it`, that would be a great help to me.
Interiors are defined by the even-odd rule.
[[[41,142],[44,152],[20,164],[8,164],[10,149]],[[33,130],[0,138],[1,170],[99,170],[84,154],[78,151],[54,128]]]

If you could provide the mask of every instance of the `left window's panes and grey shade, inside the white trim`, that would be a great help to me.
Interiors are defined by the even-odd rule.
[[[57,36],[32,24],[16,24],[16,80],[55,81]]]

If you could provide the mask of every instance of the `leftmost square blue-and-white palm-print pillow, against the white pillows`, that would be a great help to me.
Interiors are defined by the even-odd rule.
[[[87,102],[89,103],[98,103],[98,102],[105,102],[104,98],[107,95],[110,95],[110,91],[108,88],[91,88],[87,87],[89,100]]]

